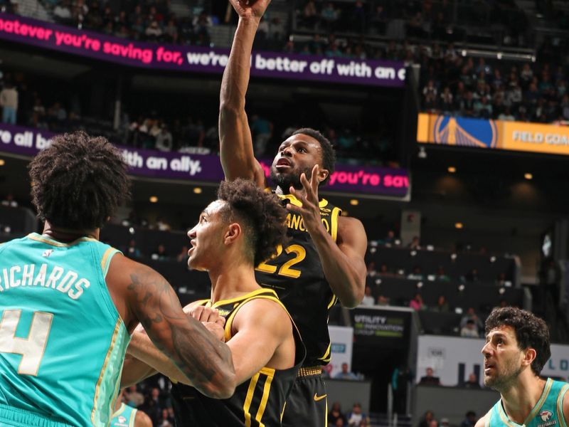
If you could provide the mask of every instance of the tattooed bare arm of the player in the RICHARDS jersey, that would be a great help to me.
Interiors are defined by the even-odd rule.
[[[226,399],[235,391],[235,369],[226,344],[200,322],[186,317],[176,292],[156,271],[115,255],[107,285],[132,332],[138,322],[201,393]]]

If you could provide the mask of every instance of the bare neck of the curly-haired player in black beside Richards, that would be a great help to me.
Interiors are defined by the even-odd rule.
[[[249,264],[224,266],[220,270],[210,270],[209,278],[211,280],[211,302],[231,300],[260,289],[260,285],[255,280],[255,270]]]

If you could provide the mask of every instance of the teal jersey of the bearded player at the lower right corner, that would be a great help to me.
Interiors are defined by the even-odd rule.
[[[506,415],[501,399],[486,413],[484,427],[568,427],[563,418],[563,396],[567,393],[569,384],[563,381],[553,381],[548,378],[543,393],[536,406],[533,407],[523,424],[514,423]]]

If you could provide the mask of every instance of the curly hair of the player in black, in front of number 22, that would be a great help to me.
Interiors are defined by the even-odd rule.
[[[238,221],[253,265],[273,255],[287,241],[287,211],[275,194],[260,189],[248,179],[222,181],[218,199],[227,203],[221,211],[224,221]]]

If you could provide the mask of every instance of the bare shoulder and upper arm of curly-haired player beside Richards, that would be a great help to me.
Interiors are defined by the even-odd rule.
[[[290,317],[277,302],[257,299],[246,303],[235,315],[232,330],[228,346],[233,354],[237,384],[250,379],[269,362],[281,364],[275,369],[294,366],[294,344],[287,360],[273,358],[287,339],[294,339]]]

